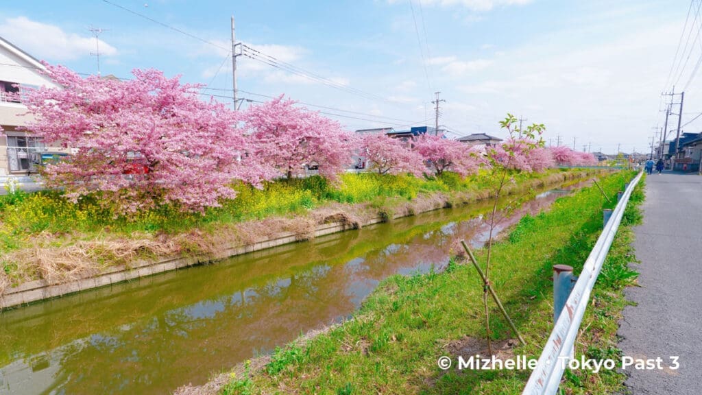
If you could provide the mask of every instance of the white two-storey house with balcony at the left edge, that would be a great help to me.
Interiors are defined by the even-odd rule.
[[[34,169],[32,157],[37,157],[37,153],[41,156],[48,150],[31,132],[22,131],[22,126],[32,119],[23,115],[27,107],[22,104],[22,88],[57,86],[41,74],[44,69],[39,60],[0,37],[0,127],[3,129],[0,133],[0,176],[28,174]]]

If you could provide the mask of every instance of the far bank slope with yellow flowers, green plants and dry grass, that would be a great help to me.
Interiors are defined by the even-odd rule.
[[[578,172],[576,170],[576,172]],[[563,173],[515,174],[517,186]],[[336,205],[354,213],[385,213],[436,195],[478,195],[489,174],[465,179],[446,173],[439,178],[345,174],[330,185],[320,177],[268,183],[262,190],[237,186],[239,195],[204,214],[159,207],[132,216],[117,216],[109,204],[86,197],[77,204],[60,193],[15,193],[0,196],[0,292],[8,283],[44,278],[50,282],[89,276],[105,266],[133,259],[211,253],[223,245],[244,245],[265,232],[303,234],[314,227],[314,209]],[[358,205],[358,203],[361,203]],[[285,218],[283,218],[285,217]],[[276,219],[282,219],[275,223]],[[292,219],[293,221],[290,221]],[[265,223],[263,221],[269,221]],[[249,226],[251,225],[251,226]],[[249,227],[246,227],[249,226]],[[286,228],[286,226],[288,228]],[[260,229],[259,229],[260,228]]]

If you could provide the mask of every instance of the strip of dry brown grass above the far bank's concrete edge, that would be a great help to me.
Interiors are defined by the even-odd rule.
[[[505,192],[519,193],[520,190],[555,185],[588,174],[592,174],[592,171],[550,174],[521,186],[510,185],[510,189]],[[470,204],[489,197],[488,190],[480,190],[451,195],[427,193],[413,200],[398,198],[386,201],[383,207],[373,207],[367,203],[346,205],[334,202],[318,207],[305,216],[274,216],[238,224],[218,224],[178,235],[133,233],[122,236],[103,233],[100,238],[83,240],[81,237],[84,236],[79,234],[41,233],[32,239],[29,247],[0,257],[4,264],[17,266],[11,278],[6,273],[0,273],[0,294],[11,283],[16,285],[36,279],[44,279],[51,284],[65,283],[95,276],[108,266],[129,267],[137,259],[159,261],[179,255],[199,255],[207,259],[220,256],[228,248],[278,238],[281,233],[293,233],[297,240],[309,240],[314,238],[314,231],[319,224],[340,222],[347,228],[361,228],[378,215],[392,219],[442,207]]]

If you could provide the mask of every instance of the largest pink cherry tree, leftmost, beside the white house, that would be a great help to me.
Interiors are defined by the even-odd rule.
[[[233,198],[233,180],[258,184],[272,176],[255,158],[237,112],[197,96],[157,70],[133,79],[80,77],[46,65],[62,89],[29,89],[34,121],[27,129],[74,155],[45,169],[46,185],[73,200],[91,193],[125,214],[173,203],[185,210],[216,207]]]

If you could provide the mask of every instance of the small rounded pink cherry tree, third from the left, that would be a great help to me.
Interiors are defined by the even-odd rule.
[[[427,169],[422,155],[412,150],[409,141],[387,134],[366,134],[360,141],[360,155],[366,157],[369,168],[378,174],[411,173],[423,176]]]

